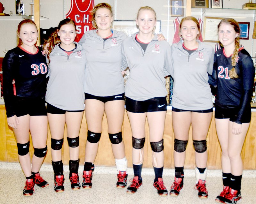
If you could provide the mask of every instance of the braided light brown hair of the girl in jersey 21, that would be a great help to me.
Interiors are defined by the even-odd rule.
[[[237,57],[238,57],[238,51],[239,51],[239,48],[240,48],[240,41],[239,41],[240,27],[239,27],[239,25],[238,25],[238,23],[236,22],[235,19],[225,18],[225,19],[222,19],[220,21],[220,23],[218,25],[218,29],[219,29],[220,25],[223,24],[223,23],[233,26],[235,32],[238,33],[238,35],[235,38],[235,49],[234,49],[233,55],[231,57],[231,64],[232,64],[233,68],[231,70],[229,70],[229,77],[230,78],[238,78],[239,76],[236,73],[235,66],[236,66],[236,60],[237,60]]]

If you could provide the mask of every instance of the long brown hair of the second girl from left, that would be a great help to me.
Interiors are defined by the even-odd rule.
[[[57,30],[53,31],[51,36],[49,37],[49,39],[44,42],[44,45],[43,45],[44,49],[48,49],[48,53],[47,53],[46,56],[47,56],[47,58],[49,60],[49,63],[51,61],[50,60],[50,53],[52,52],[54,46],[61,42],[60,41],[60,36],[58,35],[58,31],[60,30],[61,26],[67,25],[67,24],[73,25],[75,27],[75,30],[76,30],[76,23],[75,23],[74,20],[72,20],[72,19],[64,19],[64,20],[60,21]],[[49,45],[49,47],[46,48],[45,46],[47,44]]]

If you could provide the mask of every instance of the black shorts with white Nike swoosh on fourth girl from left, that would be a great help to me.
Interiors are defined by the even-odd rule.
[[[145,101],[135,101],[125,97],[126,110],[132,113],[147,113],[156,111],[166,111],[166,96],[150,98]]]

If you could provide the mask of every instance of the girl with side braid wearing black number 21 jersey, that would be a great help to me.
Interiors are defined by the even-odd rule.
[[[215,124],[222,150],[223,191],[219,203],[241,199],[241,151],[251,121],[251,95],[255,68],[250,54],[239,46],[240,28],[231,18],[218,25],[223,46],[214,55],[212,79],[217,84]]]

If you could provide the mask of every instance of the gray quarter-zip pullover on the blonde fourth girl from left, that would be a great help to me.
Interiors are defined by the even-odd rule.
[[[122,70],[127,66],[130,69],[125,96],[136,101],[164,97],[167,95],[164,77],[172,72],[170,45],[158,41],[155,35],[144,52],[135,40],[136,34],[124,40],[122,47]]]

